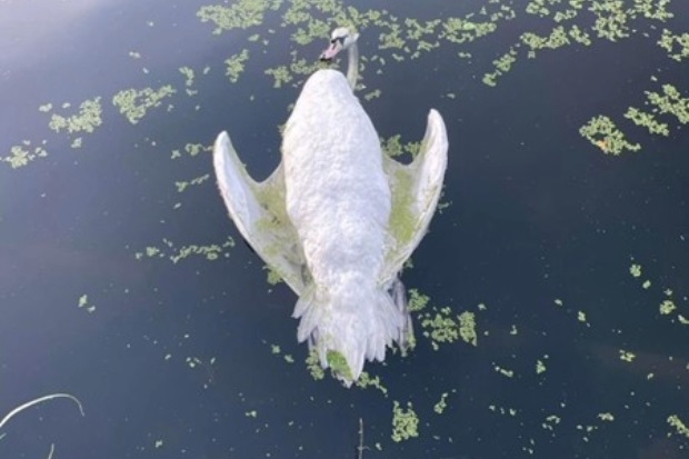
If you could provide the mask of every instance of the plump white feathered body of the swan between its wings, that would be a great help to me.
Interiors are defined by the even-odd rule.
[[[390,189],[376,130],[344,77],[316,72],[282,143],[287,212],[313,280],[355,275],[373,286],[382,268]]]

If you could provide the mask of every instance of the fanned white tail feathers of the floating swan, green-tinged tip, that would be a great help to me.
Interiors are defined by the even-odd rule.
[[[321,367],[347,386],[356,381],[366,360],[383,361],[386,348],[405,349],[411,336],[411,317],[405,287],[396,279],[388,289],[318,289],[309,286],[294,307],[301,319],[297,338],[318,352]]]

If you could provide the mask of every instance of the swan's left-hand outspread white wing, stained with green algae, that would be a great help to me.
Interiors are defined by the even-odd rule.
[[[213,147],[213,166],[220,193],[239,232],[300,296],[304,288],[304,261],[284,208],[282,162],[269,178],[257,182],[239,160],[230,137],[221,132]]]

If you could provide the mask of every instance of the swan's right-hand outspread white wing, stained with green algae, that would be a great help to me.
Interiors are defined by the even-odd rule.
[[[417,248],[438,206],[448,166],[448,134],[442,117],[428,113],[421,149],[408,164],[385,157],[383,168],[392,190],[392,212],[388,224],[391,241],[379,282],[388,285]]]

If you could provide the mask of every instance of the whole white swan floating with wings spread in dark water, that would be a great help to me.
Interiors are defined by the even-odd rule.
[[[303,84],[282,138],[282,160],[254,181],[221,132],[213,167],[242,237],[299,297],[297,338],[350,386],[366,360],[412,338],[398,278],[423,238],[447,169],[442,117],[428,114],[419,154],[402,164],[381,150],[353,93],[358,33],[337,28],[320,57],[348,51],[347,77],[320,69]]]

